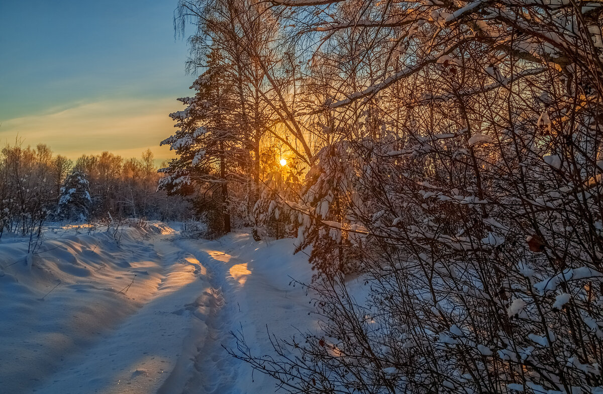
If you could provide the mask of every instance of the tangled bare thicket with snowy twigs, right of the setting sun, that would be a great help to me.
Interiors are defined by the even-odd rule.
[[[597,392],[601,5],[273,4],[332,70],[286,202],[321,329],[234,354],[289,392]]]

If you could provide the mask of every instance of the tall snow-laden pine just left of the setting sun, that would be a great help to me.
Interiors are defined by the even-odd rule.
[[[161,142],[178,154],[169,167],[160,188],[175,194],[196,194],[194,202],[208,221],[210,232],[230,232],[229,182],[240,181],[238,168],[247,161],[241,116],[237,111],[235,83],[223,66],[217,50],[207,56],[207,70],[195,81],[195,97],[180,98],[183,111],[169,116],[180,127]],[[213,211],[219,211],[218,217]]]

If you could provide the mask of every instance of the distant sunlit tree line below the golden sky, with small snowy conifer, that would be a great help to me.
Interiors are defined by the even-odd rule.
[[[48,220],[182,219],[186,202],[157,192],[160,178],[150,150],[140,159],[103,152],[74,161],[47,145],[16,141],[0,151],[0,237],[5,231],[34,235]]]

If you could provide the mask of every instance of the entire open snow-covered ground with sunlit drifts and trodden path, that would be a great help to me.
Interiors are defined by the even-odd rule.
[[[90,232],[49,227],[33,254],[0,240],[0,387],[6,393],[270,393],[275,382],[227,354],[241,331],[312,325],[307,257],[292,240],[183,239],[162,223]]]

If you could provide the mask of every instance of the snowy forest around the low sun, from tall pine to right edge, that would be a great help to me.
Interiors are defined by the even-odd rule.
[[[600,393],[602,11],[181,0],[160,188],[295,237],[318,294],[320,329],[230,352],[292,393]]]

